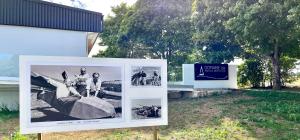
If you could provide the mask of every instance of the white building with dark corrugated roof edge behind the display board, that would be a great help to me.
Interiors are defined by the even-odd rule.
[[[103,15],[44,1],[0,0],[0,109],[18,109],[18,56],[87,57]]]

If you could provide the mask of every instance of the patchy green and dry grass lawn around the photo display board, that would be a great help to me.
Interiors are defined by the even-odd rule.
[[[17,113],[0,113],[0,135],[18,129]],[[49,133],[44,139],[152,139],[151,128]],[[26,135],[36,139],[35,135]],[[300,92],[245,91],[169,101],[160,139],[300,139]],[[1,137],[0,137],[1,139]]]

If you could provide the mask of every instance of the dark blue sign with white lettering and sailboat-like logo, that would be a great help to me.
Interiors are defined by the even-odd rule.
[[[228,80],[228,64],[194,64],[195,80]]]

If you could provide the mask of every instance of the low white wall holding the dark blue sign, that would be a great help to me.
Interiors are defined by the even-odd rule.
[[[237,86],[237,66],[228,65],[228,80],[197,80],[194,79],[194,64],[183,64],[183,84],[194,88],[232,88]]]

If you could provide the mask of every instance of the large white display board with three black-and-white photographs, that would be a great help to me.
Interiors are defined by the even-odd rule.
[[[165,60],[20,56],[22,134],[168,124]]]

